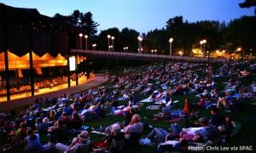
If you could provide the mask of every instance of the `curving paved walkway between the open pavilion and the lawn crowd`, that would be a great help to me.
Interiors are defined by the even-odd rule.
[[[108,81],[108,77],[105,77],[104,75],[95,75],[94,79],[89,80],[89,82],[85,82],[84,84],[80,84],[78,86],[73,86],[71,88],[65,88],[65,86],[67,87],[67,84],[65,84],[65,86],[60,85],[55,88],[44,89],[44,91],[40,90],[40,94],[38,94],[38,95],[36,94],[34,96],[29,96],[26,98],[13,99],[10,102],[7,102],[7,101],[0,102],[0,111],[10,110],[15,107],[22,106],[22,105],[32,104],[32,102],[37,98],[44,99],[45,97],[60,97],[63,94],[67,94],[67,93],[75,94],[84,89],[99,86],[102,83],[107,82],[107,81]],[[53,90],[54,90],[54,92],[52,92]],[[44,94],[43,94],[43,92],[44,92]]]

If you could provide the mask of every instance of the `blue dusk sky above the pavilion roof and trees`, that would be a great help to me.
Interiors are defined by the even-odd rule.
[[[239,8],[244,0],[0,0],[18,8],[37,8],[40,14],[69,15],[73,10],[93,14],[98,32],[128,27],[148,32],[166,26],[166,21],[177,15],[183,20],[219,20],[230,22],[243,15],[253,15],[253,8]]]

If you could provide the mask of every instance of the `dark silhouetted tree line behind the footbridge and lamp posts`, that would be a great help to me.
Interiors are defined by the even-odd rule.
[[[73,14],[64,16],[55,14],[55,19],[67,22],[73,26],[79,26],[88,33],[88,48],[96,43],[97,50],[108,50],[108,35],[114,37],[114,51],[137,52],[137,37],[139,32],[116,27],[100,31],[97,35],[99,24],[92,19],[90,12],[82,13],[79,10]],[[174,54],[182,50],[185,55],[191,55],[192,48],[200,48],[200,41],[207,40],[205,48],[209,52],[216,49],[224,49],[229,53],[236,52],[236,48],[244,49],[245,54],[253,53],[256,49],[256,16],[242,16],[231,20],[230,23],[218,20],[201,20],[189,22],[183,20],[183,16],[175,16],[166,21],[162,29],[155,29],[143,33],[143,53],[150,54],[152,49],[157,49],[157,54],[169,54],[169,38],[173,37],[172,50]],[[125,48],[127,47],[127,48]],[[125,49],[124,49],[125,48]]]

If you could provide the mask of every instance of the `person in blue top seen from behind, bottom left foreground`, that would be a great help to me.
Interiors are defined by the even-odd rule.
[[[28,129],[26,131],[26,138],[25,138],[25,152],[26,153],[37,153],[42,151],[42,146],[39,139],[38,133],[33,133],[32,129]]]

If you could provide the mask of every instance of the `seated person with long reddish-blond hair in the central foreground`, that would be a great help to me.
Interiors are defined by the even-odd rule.
[[[131,117],[131,122],[129,125],[124,127],[125,139],[128,141],[137,141],[140,135],[143,133],[143,123],[141,121],[141,116],[134,114]]]

